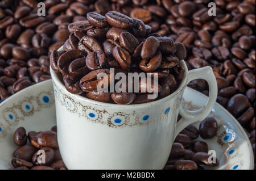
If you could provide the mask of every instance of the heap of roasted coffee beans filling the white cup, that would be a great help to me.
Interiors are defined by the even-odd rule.
[[[151,33],[152,28],[141,20],[117,11],[109,11],[105,16],[88,12],[87,19],[69,24],[71,34],[64,43],[63,51],[53,50],[50,57],[51,68],[62,74],[69,92],[86,92],[85,95],[90,99],[101,102],[113,100],[117,104],[155,100],[147,99],[146,96],[153,93],[152,89],[142,93],[142,87],[148,86],[143,78],[138,82],[139,92],[126,92],[130,87],[128,76],[125,80],[127,89],[124,91],[98,91],[98,84],[105,79],[96,79],[98,73],[106,73],[108,85],[109,79],[114,79],[110,68],[114,68],[115,74],[145,72],[151,73],[151,77],[157,75],[159,84],[152,81],[150,87],[158,87],[158,98],[170,95],[177,89],[184,73],[179,61],[187,55],[183,44],[175,43],[171,37]],[[133,86],[134,83],[131,83]]]

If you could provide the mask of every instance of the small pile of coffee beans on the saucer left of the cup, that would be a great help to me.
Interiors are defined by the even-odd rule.
[[[19,127],[14,132],[13,140],[19,146],[11,160],[15,170],[67,169],[61,159],[56,126],[52,127],[51,131],[30,131],[28,134],[25,128]]]

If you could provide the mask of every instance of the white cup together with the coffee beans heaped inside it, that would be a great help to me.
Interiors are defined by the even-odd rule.
[[[217,98],[212,68],[188,71],[186,49],[116,11],[69,24],[50,56],[58,143],[68,169],[163,169],[172,142]],[[205,79],[209,100],[187,111],[187,84]],[[177,116],[183,117],[177,123]]]

